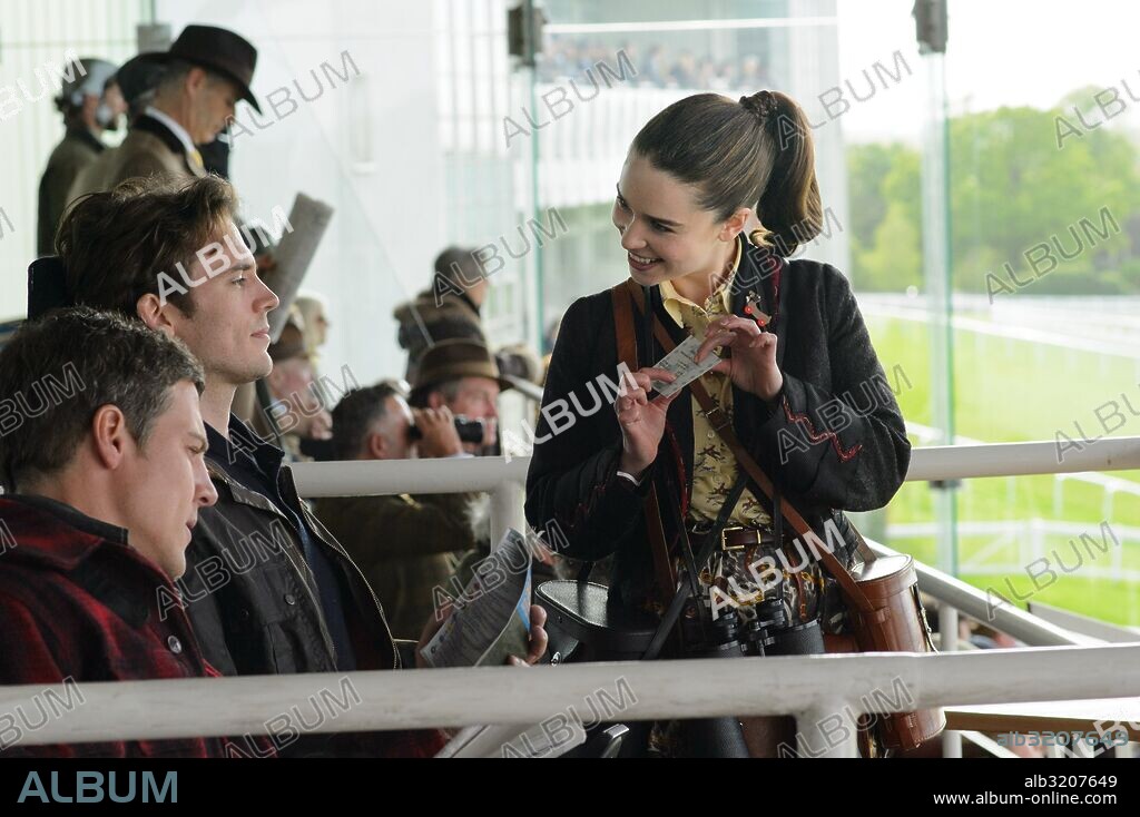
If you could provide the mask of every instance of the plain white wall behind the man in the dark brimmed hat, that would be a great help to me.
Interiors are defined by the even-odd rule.
[[[187,23],[206,23],[256,46],[253,89],[264,130],[239,104],[237,119],[251,133],[237,134],[230,164],[244,211],[271,221],[272,209],[287,211],[299,190],[335,207],[304,285],[329,301],[321,368],[339,382],[347,363],[361,385],[402,375],[391,312],[426,285],[445,243],[432,5],[160,0],[156,17],[176,36]],[[294,81],[317,98],[302,99]],[[295,111],[285,92],[275,93],[283,87]]]

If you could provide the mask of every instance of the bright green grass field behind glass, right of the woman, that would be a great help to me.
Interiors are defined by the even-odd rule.
[[[929,425],[927,326],[876,316],[868,316],[866,321],[888,379],[896,389],[903,415],[910,422]],[[1074,422],[1090,438],[1105,433],[1094,411],[1110,400],[1119,406],[1125,422],[1109,435],[1140,435],[1140,417],[1132,416],[1122,399],[1123,394],[1140,410],[1135,360],[964,330],[955,330],[954,356],[959,435],[986,442],[1052,441],[1061,431],[1080,442]],[[905,379],[890,374],[895,366],[902,367]],[[1108,410],[1101,411],[1106,418],[1108,414]],[[1140,485],[1140,472],[1112,472],[1112,475]],[[906,483],[887,509],[890,524],[931,522],[934,513],[934,497],[926,483]],[[1114,530],[1140,528],[1140,497],[1117,492],[1106,520],[1106,490],[1076,480],[1065,481],[1059,497],[1057,477],[1052,475],[966,480],[958,490],[960,524],[1031,518],[1077,524],[1081,531],[1100,541],[1102,521]],[[1024,547],[1026,538],[1019,532],[1004,546],[988,549],[983,564],[1019,566],[1016,572],[995,575],[970,572],[971,565],[979,564],[978,552],[993,542],[995,534],[960,534],[958,563],[963,567],[960,578],[976,587],[993,588],[1010,596],[1008,577],[1019,595],[1033,591],[1031,575],[1020,567],[1033,559]],[[1140,570],[1140,542],[1123,539],[1122,542],[1121,553],[1115,556],[1121,566]],[[890,545],[912,553],[922,562],[938,564],[933,538],[895,539]],[[1112,566],[1112,550],[1098,552],[1094,558],[1085,555],[1082,562],[1073,554],[1068,537],[1049,536],[1043,552],[1047,555],[1056,552],[1073,569],[1070,572],[1057,570],[1059,578],[1052,583],[1042,578],[1039,581],[1042,589],[1034,593],[1034,601],[1114,623],[1140,626],[1137,582],[1089,577],[1093,570]],[[1050,563],[1054,562],[1050,557]]]

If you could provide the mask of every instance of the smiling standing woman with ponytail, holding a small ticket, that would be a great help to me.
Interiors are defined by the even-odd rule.
[[[822,227],[814,164],[807,119],[783,93],[739,101],[702,93],[670,105],[634,139],[617,183],[613,224],[637,286],[626,300],[611,292],[579,299],[562,320],[544,406],[564,399],[588,409],[591,384],[614,377],[621,308],[634,312],[638,366],[612,408],[575,411],[572,424],[551,424],[543,412],[527,517],[536,529],[556,522],[565,555],[612,556],[612,608],[660,616],[678,588],[697,587],[703,610],[685,612],[661,657],[691,654],[700,631],[692,619],[707,630],[718,615],[734,615],[743,642],[765,602],[767,611],[782,603],[788,627],[824,636],[790,652],[822,652],[845,631],[846,611],[767,496],[741,479],[716,414],[691,387],[651,393],[651,378],[673,377],[652,367],[665,351],[659,341],[649,345],[641,293],[674,343],[702,340],[698,359],[719,351],[701,385],[777,497],[829,544],[841,540],[836,555],[848,566],[858,556],[842,512],[882,507],[906,473],[903,418],[847,279],[828,264],[788,259]],[[730,498],[727,528],[692,582],[690,556]],[[654,540],[663,542],[665,569]],[[756,570],[763,555],[779,565],[775,588]],[[748,719],[748,750],[775,755],[781,743],[795,746],[790,720]],[[677,724],[641,729],[637,743],[698,751]]]

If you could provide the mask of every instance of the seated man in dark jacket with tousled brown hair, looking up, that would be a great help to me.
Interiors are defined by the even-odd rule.
[[[206,464],[219,499],[194,531],[184,585],[207,660],[225,675],[399,668],[360,569],[298,496],[282,450],[231,414],[238,386],[271,368],[268,316],[279,303],[258,277],[236,209],[233,188],[215,177],[83,199],[59,232],[67,297],[138,317],[202,362]],[[540,607],[531,620],[532,663],[546,649]],[[439,628],[425,624],[421,643]],[[433,730],[391,733],[367,751],[418,755],[441,745]]]

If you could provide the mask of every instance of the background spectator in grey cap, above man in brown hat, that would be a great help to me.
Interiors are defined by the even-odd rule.
[[[432,285],[414,301],[396,308],[397,341],[408,351],[405,377],[416,382],[416,368],[429,346],[465,340],[487,345],[480,310],[490,287],[475,250],[448,247],[435,259]]]

